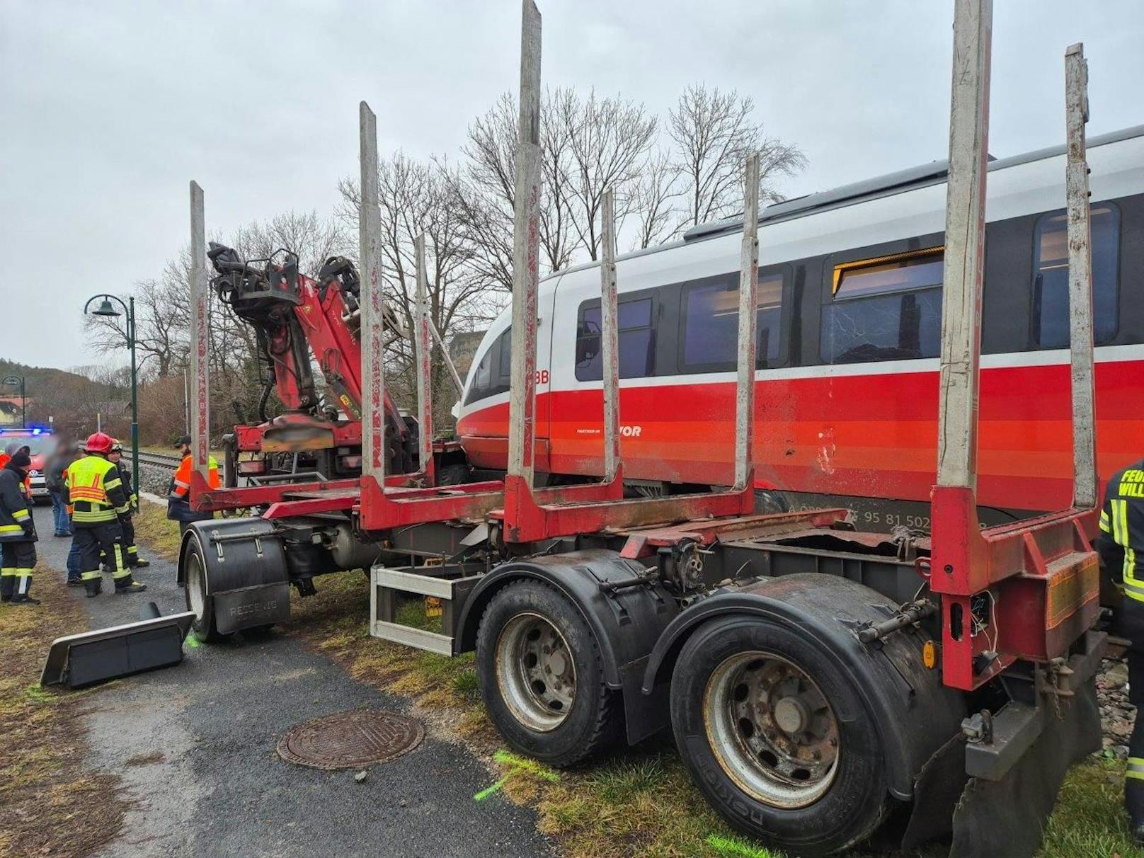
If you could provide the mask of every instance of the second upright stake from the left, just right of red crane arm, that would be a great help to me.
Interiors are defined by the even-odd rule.
[[[378,207],[378,118],[360,104],[362,207],[362,476],[386,485],[386,308],[381,294],[381,209]]]

